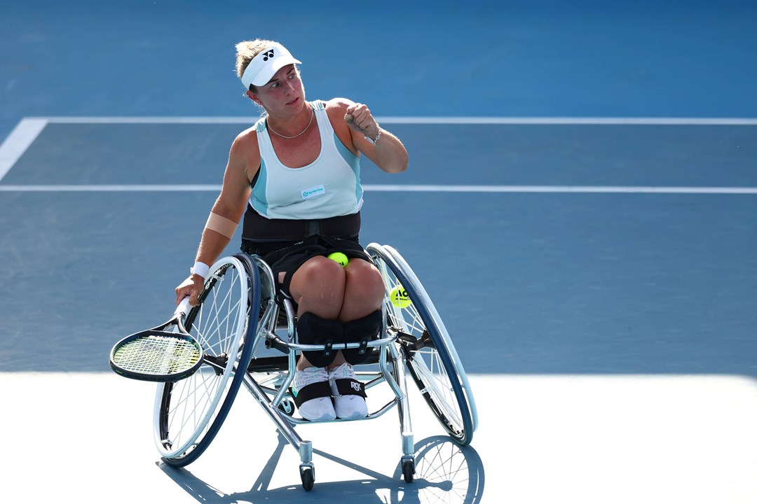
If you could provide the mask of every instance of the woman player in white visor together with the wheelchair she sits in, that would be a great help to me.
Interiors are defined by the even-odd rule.
[[[245,96],[264,115],[232,143],[195,267],[176,288],[177,304],[193,305],[185,327],[207,365],[160,385],[160,453],[173,465],[192,462],[245,385],[299,451],[306,489],[312,447],[294,425],[375,419],[395,406],[411,481],[406,371],[459,444],[469,443],[476,415],[452,342],[410,267],[391,247],[358,239],[360,156],[397,173],[407,150],[364,104],[305,100],[301,62],[279,43],[236,48]],[[243,215],[244,253],[217,261]],[[370,411],[366,391],[379,383],[394,399]]]

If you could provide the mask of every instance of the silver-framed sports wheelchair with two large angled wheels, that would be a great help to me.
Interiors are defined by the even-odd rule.
[[[357,379],[366,391],[388,385],[391,393],[386,396],[393,398],[375,410],[369,402],[369,414],[364,419],[329,422],[376,419],[396,407],[402,447],[400,465],[407,483],[413,481],[415,474],[408,377],[453,441],[461,446],[470,443],[478,426],[475,401],[431,299],[391,246],[370,243],[366,252],[385,284],[382,330],[375,339],[333,345],[298,343],[291,301],[276,300],[273,273],[259,257],[239,253],[221,258],[210,267],[198,305],[185,316],[185,327],[202,343],[205,359],[211,365],[203,366],[187,379],[160,383],[157,388],[154,438],[164,462],[182,467],[201,456],[226,419],[238,390],[244,387],[288,444],[298,450],[302,485],[311,490],[315,481],[313,446],[294,427],[318,422],[298,416],[290,385],[300,352],[347,348],[369,353],[363,363],[355,366]],[[409,301],[391,298],[396,289],[406,291]]]

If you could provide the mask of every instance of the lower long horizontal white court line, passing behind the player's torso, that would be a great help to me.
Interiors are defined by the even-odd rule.
[[[597,194],[757,194],[757,187],[391,185],[364,184],[363,189],[395,193],[597,193]],[[202,192],[220,184],[0,185],[0,192]]]

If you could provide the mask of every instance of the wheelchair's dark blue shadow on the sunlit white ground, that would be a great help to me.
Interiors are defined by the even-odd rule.
[[[317,480],[313,490],[306,492],[300,484],[270,488],[273,472],[279,463],[282,451],[288,444],[279,434],[279,444],[266,462],[263,471],[250,490],[223,493],[197,478],[185,468],[174,468],[162,462],[160,469],[185,492],[204,504],[232,504],[233,502],[334,502],[335,497],[349,496],[350,502],[407,503],[449,502],[450,504],[475,504],[481,502],[484,493],[484,467],[478,453],[470,447],[459,447],[446,436],[425,438],[416,443],[416,475],[412,483],[402,477],[402,467],[397,463],[394,474],[382,475],[372,469],[340,459],[322,450],[313,453],[361,472],[367,478],[354,481]]]

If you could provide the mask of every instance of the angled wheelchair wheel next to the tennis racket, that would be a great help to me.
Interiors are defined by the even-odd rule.
[[[199,305],[187,314],[185,326],[201,342],[206,362],[187,379],[158,385],[154,437],[169,465],[197,459],[229,413],[251,359],[258,279],[247,256],[222,258],[210,268]]]

